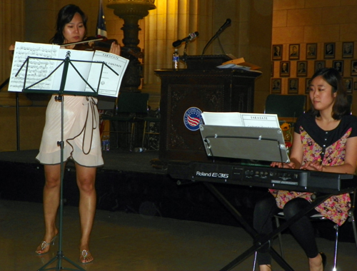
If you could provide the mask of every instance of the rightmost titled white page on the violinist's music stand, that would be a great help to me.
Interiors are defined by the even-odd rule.
[[[101,75],[99,95],[118,97],[121,80],[124,76],[126,66],[128,66],[129,59],[117,56],[114,53],[96,51],[93,56],[93,61],[106,63],[119,75],[116,75],[105,65],[103,73],[101,74],[102,64],[92,63],[91,71],[89,73],[89,84],[93,88],[96,88],[99,83],[99,76]],[[87,86],[86,91],[91,91],[91,89]]]

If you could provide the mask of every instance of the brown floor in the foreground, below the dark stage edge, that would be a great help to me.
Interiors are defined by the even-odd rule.
[[[40,203],[1,200],[0,229],[0,270],[39,270],[57,255],[58,240],[48,254],[34,252],[43,235]],[[95,260],[81,265],[78,208],[64,208],[63,229],[64,256],[87,271],[220,270],[252,244],[240,227],[97,210],[90,248]],[[327,255],[326,270],[331,270],[333,241],[317,241]],[[283,243],[287,262],[295,270],[307,270],[306,257],[293,237],[283,235]],[[277,241],[273,247],[278,250]],[[357,270],[356,256],[353,243],[340,242],[338,270]],[[74,268],[66,261],[61,267]],[[249,257],[232,270],[252,267],[253,257]],[[273,270],[281,268],[273,263]]]

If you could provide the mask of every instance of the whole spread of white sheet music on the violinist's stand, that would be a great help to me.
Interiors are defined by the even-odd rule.
[[[71,63],[89,85],[94,88],[95,91],[99,87],[99,95],[112,97],[118,96],[121,80],[124,76],[126,67],[128,66],[129,59],[104,51],[69,50],[60,48],[59,45],[34,44],[29,42],[16,42],[15,44],[9,91],[21,92],[24,88],[29,88],[35,83],[36,84],[32,86],[31,89],[43,90],[44,92],[59,91],[64,68],[64,65],[61,65],[61,63],[66,58],[67,52],[70,52],[69,59],[71,60]],[[19,72],[21,66],[23,66],[29,56],[31,57],[29,58],[29,65],[25,65]],[[56,60],[48,58],[55,58]],[[84,61],[95,61],[95,63]],[[118,74],[111,71],[106,65],[103,65],[103,62]],[[49,74],[51,74],[51,72],[59,65],[61,65],[60,68],[58,68],[54,74],[49,76]],[[101,74],[102,66],[104,66],[104,68]],[[18,72],[19,74],[16,76]],[[79,73],[69,65],[64,91],[88,92],[89,95],[91,95],[94,91],[86,84],[81,76],[79,76]],[[24,86],[25,75],[26,84]],[[49,78],[41,81],[46,78],[46,76],[49,76]],[[41,81],[41,83],[37,83],[39,81]]]

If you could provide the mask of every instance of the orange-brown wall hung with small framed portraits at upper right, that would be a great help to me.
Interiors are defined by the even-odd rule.
[[[357,74],[351,66],[357,60],[356,14],[356,0],[274,0],[272,44],[281,45],[283,50],[281,59],[273,61],[273,79],[281,78],[281,93],[289,92],[289,79],[298,81],[298,93],[306,93],[306,82],[318,63],[332,67],[340,62],[341,74],[351,83],[349,91],[356,101]],[[289,53],[293,44],[300,48],[297,59],[291,59]],[[316,45],[314,57],[308,53],[311,44]],[[334,46],[333,55],[326,54],[328,44]],[[343,53],[343,47],[351,44],[353,52]],[[281,61],[290,61],[289,76],[281,76]],[[298,61],[306,61],[306,75],[298,73]]]

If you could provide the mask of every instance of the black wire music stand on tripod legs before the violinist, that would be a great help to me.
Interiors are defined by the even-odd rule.
[[[82,267],[80,267],[79,265],[77,265],[75,262],[69,260],[68,257],[64,256],[64,253],[62,251],[62,227],[63,227],[63,207],[64,207],[64,203],[63,203],[63,180],[64,180],[64,94],[66,95],[79,95],[79,96],[98,96],[98,92],[99,92],[99,84],[100,84],[100,79],[101,79],[101,75],[103,73],[103,68],[104,66],[108,67],[111,71],[113,71],[114,73],[116,73],[116,71],[114,71],[110,66],[108,66],[106,63],[104,62],[97,62],[97,61],[79,61],[79,60],[70,60],[70,56],[71,56],[71,52],[67,51],[66,53],[66,58],[65,59],[59,59],[59,58],[38,58],[38,57],[27,57],[26,61],[24,61],[24,63],[22,64],[21,68],[19,68],[19,71],[16,73],[16,76],[19,74],[19,72],[21,71],[22,68],[24,68],[24,66],[26,65],[26,73],[24,76],[24,88],[23,91],[24,92],[28,92],[28,93],[58,93],[59,96],[56,96],[56,101],[60,101],[61,102],[61,141],[57,141],[57,145],[59,145],[59,148],[61,148],[61,186],[60,186],[60,204],[59,204],[59,250],[57,252],[57,255],[52,258],[51,260],[49,260],[49,262],[47,262],[44,266],[40,267],[39,270],[81,270],[81,271],[85,271]],[[29,61],[31,58],[34,59],[40,59],[43,61],[61,61],[61,63],[59,64],[59,66],[57,66],[54,71],[52,71],[51,73],[49,73],[48,76],[46,76],[45,78],[41,79],[40,81],[31,84],[31,86],[26,86],[26,78],[27,78],[27,73],[29,71]],[[99,81],[98,81],[98,86],[96,89],[94,89],[92,86],[89,85],[89,83],[86,81],[86,79],[84,79],[83,76],[81,76],[81,73],[77,70],[77,68],[74,66],[74,64],[72,62],[86,62],[86,63],[95,63],[95,64],[100,64],[101,65],[101,73],[99,75]],[[36,86],[37,84],[41,83],[42,81],[45,81],[46,79],[48,79],[51,75],[53,75],[60,66],[64,65],[64,69],[62,72],[62,76],[61,76],[61,86],[59,87],[59,90],[44,90],[44,89],[34,89],[32,87]],[[65,87],[66,87],[66,79],[67,79],[67,73],[68,73],[68,69],[69,69],[69,65],[72,66],[72,68],[74,68],[74,70],[76,71],[76,73],[78,73],[78,75],[81,77],[81,79],[86,83],[86,86],[89,86],[89,88],[91,88],[91,91],[66,91]],[[116,75],[118,76],[119,74],[116,73]],[[57,262],[56,267],[51,267],[51,268],[47,268],[49,265],[51,265],[52,262]],[[67,262],[69,262],[71,265],[73,265],[74,267],[76,267],[77,269],[71,269],[68,267],[62,267],[61,262],[62,260],[66,260]]]

